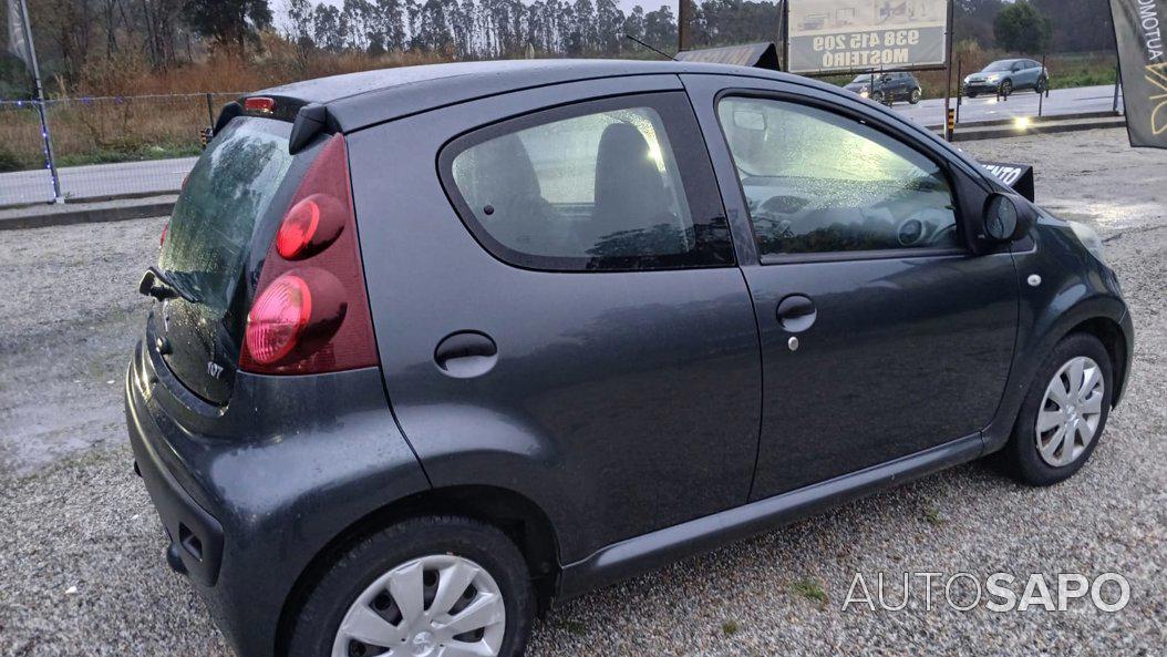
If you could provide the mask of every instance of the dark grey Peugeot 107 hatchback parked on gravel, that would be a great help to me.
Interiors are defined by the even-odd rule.
[[[126,377],[238,653],[517,656],[534,614],[941,468],[1083,467],[1132,327],[1097,236],[889,110],[675,62],[228,105]]]

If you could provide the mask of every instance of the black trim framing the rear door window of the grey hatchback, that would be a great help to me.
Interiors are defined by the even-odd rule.
[[[610,266],[602,266],[601,264],[600,267],[588,268],[565,266],[562,260],[566,259],[517,252],[495,239],[478,222],[454,180],[453,163],[455,158],[467,149],[490,139],[530,127],[584,117],[593,112],[634,107],[650,107],[659,114],[678,163],[682,177],[680,191],[690,207],[692,219],[694,222],[705,222],[712,218],[724,228],[719,232],[725,233],[725,244],[721,249],[725,261],[682,266],[637,266],[635,263],[612,263]],[[686,123],[690,125],[685,125]],[[682,162],[685,159],[683,152],[690,152],[690,155],[696,152],[700,159],[693,162]],[[738,265],[733,243],[729,237],[728,223],[725,219],[726,212],[721,203],[712,163],[710,162],[708,151],[700,135],[699,124],[697,117],[693,114],[692,105],[683,90],[644,90],[615,96],[576,99],[558,105],[532,109],[513,117],[476,125],[448,140],[439,151],[436,163],[442,189],[462,224],[487,253],[508,266],[552,273],[609,273],[720,268]],[[624,259],[620,258],[620,260]],[[634,259],[627,258],[627,260]],[[555,263],[555,260],[560,261]]]

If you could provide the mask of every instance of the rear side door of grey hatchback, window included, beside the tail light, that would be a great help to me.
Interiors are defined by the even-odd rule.
[[[567,561],[747,501],[757,329],[676,76],[350,144],[385,387],[435,487],[532,501]]]

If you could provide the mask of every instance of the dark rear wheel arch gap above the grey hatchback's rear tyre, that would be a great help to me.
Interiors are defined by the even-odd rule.
[[[287,655],[296,614],[333,562],[364,537],[393,523],[421,516],[463,516],[502,530],[531,571],[539,609],[546,609],[559,585],[559,541],[550,517],[530,498],[494,485],[436,488],[396,499],[352,522],[321,548],[296,578],[275,628],[275,655]]]

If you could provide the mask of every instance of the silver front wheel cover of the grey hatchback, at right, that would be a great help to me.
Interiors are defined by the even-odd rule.
[[[1098,433],[1105,385],[1098,363],[1086,356],[1057,370],[1037,411],[1034,433],[1042,461],[1060,468],[1085,453]]]

